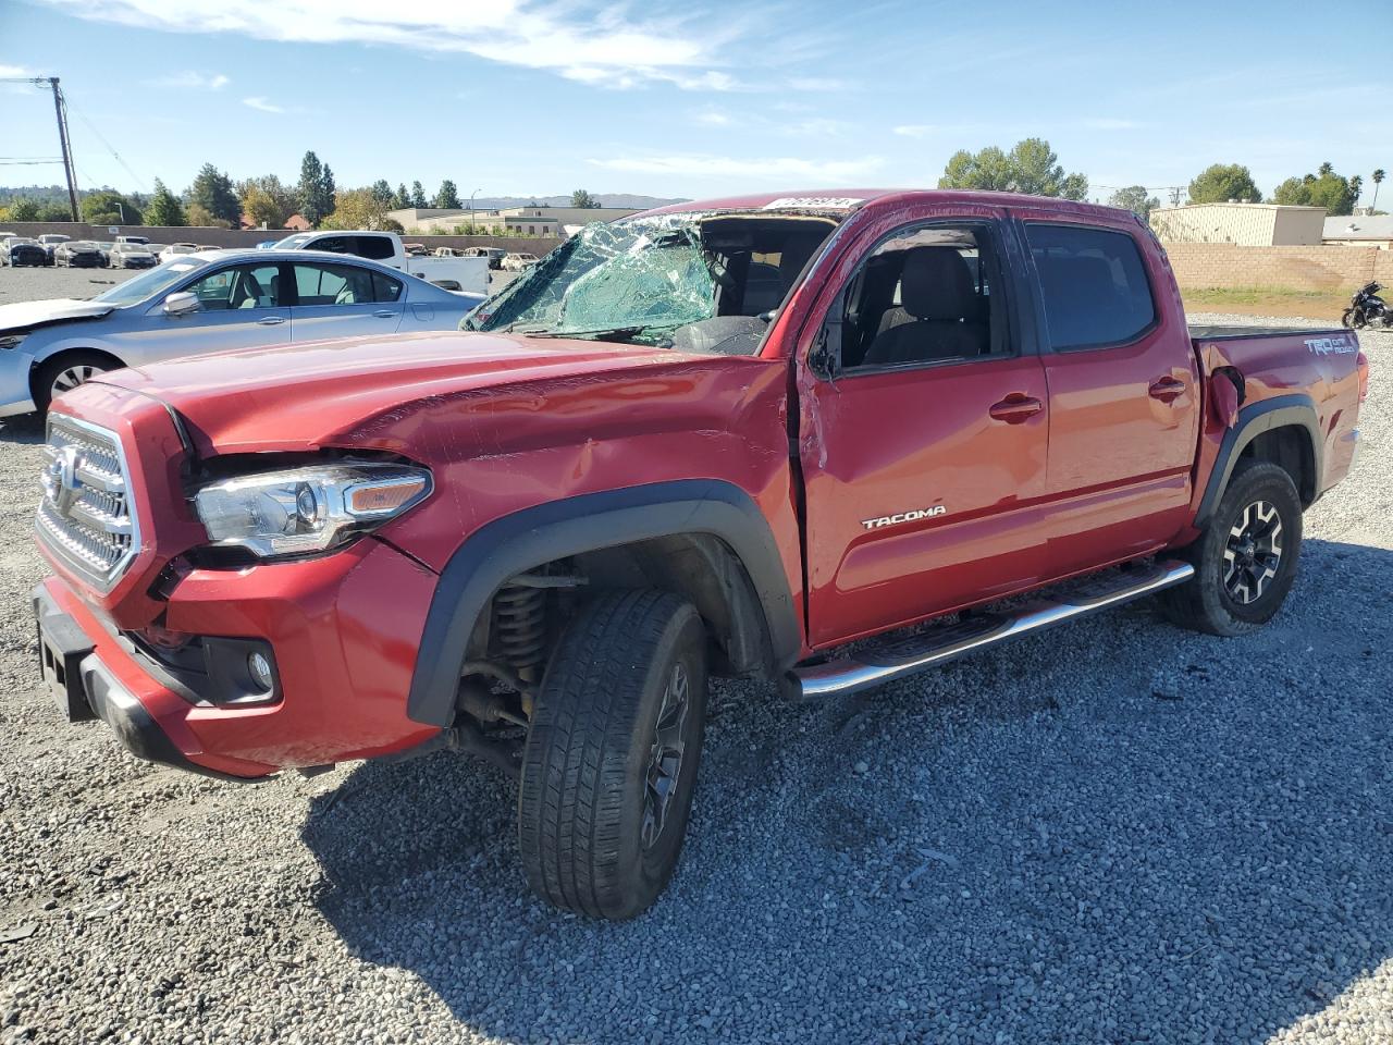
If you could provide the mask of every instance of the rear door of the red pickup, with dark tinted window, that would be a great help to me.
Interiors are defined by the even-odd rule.
[[[1130,217],[1021,212],[1049,383],[1055,575],[1144,555],[1184,525],[1199,373],[1173,279]]]

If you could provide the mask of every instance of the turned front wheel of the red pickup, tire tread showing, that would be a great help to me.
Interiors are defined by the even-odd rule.
[[[547,665],[522,751],[518,840],[557,907],[632,918],[677,867],[706,718],[706,630],[685,599],[603,592]]]

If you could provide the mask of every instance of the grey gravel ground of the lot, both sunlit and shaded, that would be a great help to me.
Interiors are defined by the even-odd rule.
[[[623,925],[531,899],[472,761],[238,787],[60,722],[39,435],[6,424],[0,1041],[1393,1041],[1393,336],[1364,343],[1362,458],[1269,628],[1134,605],[816,708],[720,686],[683,867]]]

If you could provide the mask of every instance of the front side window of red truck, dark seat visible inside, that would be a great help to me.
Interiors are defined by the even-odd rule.
[[[989,226],[897,229],[861,262],[847,287],[843,369],[1009,355],[997,272]]]

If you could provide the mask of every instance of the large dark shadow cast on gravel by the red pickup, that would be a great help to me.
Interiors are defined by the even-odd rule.
[[[1250,638],[1142,603],[816,708],[724,684],[627,924],[528,895],[492,768],[365,764],[312,803],[318,906],[504,1039],[1263,1041],[1393,957],[1390,589],[1308,541]]]

